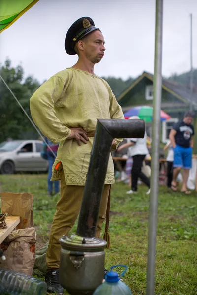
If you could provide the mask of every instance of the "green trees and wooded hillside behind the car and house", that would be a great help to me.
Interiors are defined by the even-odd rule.
[[[40,83],[33,76],[24,77],[24,70],[21,65],[15,68],[11,65],[11,60],[6,59],[3,65],[0,65],[0,75],[5,80],[14,95],[20,101],[21,105],[31,117],[29,101]],[[189,86],[189,72],[181,75],[173,74],[168,79]],[[197,69],[193,72],[194,89],[197,90]],[[102,77],[105,79],[116,98],[120,93],[129,87],[136,79],[129,77],[126,80],[115,77]],[[39,137],[33,125],[24,114],[10,91],[0,79],[0,142],[7,138],[13,139],[36,139]]]

